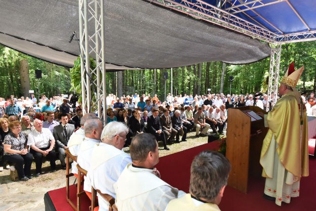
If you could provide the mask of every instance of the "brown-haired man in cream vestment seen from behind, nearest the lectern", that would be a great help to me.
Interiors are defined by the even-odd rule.
[[[190,193],[171,200],[165,211],[220,211],[230,171],[231,164],[222,154],[201,152],[191,164]]]

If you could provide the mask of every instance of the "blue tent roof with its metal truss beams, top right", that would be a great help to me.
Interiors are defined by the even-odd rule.
[[[270,43],[316,39],[314,0],[164,0],[165,4],[161,4],[161,0],[153,2]],[[255,34],[247,33],[245,29]]]

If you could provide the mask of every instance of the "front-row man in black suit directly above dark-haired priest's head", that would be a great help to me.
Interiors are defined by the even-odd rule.
[[[152,108],[152,114],[150,117],[148,117],[148,132],[153,134],[156,137],[157,141],[163,142],[163,148],[165,150],[169,150],[166,144],[166,137],[165,134],[162,132],[162,127],[160,123],[160,117],[158,116],[158,109],[156,107]]]

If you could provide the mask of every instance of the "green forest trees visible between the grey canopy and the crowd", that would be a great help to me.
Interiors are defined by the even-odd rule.
[[[173,95],[203,95],[208,93],[208,89],[211,89],[210,93],[224,94],[266,92],[269,60],[268,57],[245,65],[211,61],[173,68]],[[305,66],[297,85],[298,90],[315,91],[316,41],[282,45],[280,79],[292,61],[295,61],[296,69]],[[62,93],[74,93],[74,85],[80,83],[80,77],[74,77],[75,68],[76,65],[73,71],[70,71],[70,68],[45,62],[0,45],[0,97],[7,98],[11,94],[17,97],[28,96],[29,90],[34,90],[36,97],[41,94],[52,97]],[[42,78],[35,77],[36,69],[42,71]],[[106,72],[107,94],[157,94],[159,99],[163,99],[165,86],[166,93],[171,91],[170,73],[170,69]],[[165,74],[168,75],[166,80]],[[233,76],[232,81],[230,76]]]

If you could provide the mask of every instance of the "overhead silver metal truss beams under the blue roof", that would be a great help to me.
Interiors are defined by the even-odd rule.
[[[233,0],[218,1],[216,6],[208,4],[202,0],[148,0],[149,2],[169,8],[180,13],[192,16],[193,18],[204,20],[212,24],[219,25],[224,28],[243,33],[253,38],[266,41],[267,43],[293,43],[298,41],[311,41],[316,40],[316,30],[310,30],[305,21],[293,8],[293,6],[287,0],[272,0],[269,3],[263,3],[262,0],[242,1]],[[284,34],[275,25],[265,20],[260,14],[256,13],[254,9],[259,7],[265,7],[272,4],[278,4],[286,2],[292,8],[298,18],[304,23],[308,31]],[[225,5],[229,3],[231,7],[225,8]],[[237,4],[238,3],[238,4]],[[224,9],[221,9],[224,8]],[[253,13],[260,16],[270,26],[276,29],[277,33],[268,30],[266,27],[252,19],[246,13],[247,10],[251,10]],[[251,18],[256,24],[246,21],[238,17],[237,13],[243,13]]]

